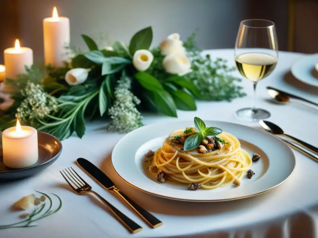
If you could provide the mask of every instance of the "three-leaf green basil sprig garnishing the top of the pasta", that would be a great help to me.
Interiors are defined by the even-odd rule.
[[[205,123],[198,117],[194,118],[194,127],[198,132],[185,140],[183,148],[185,151],[197,148],[205,136],[216,136],[222,133],[220,128],[206,127]]]

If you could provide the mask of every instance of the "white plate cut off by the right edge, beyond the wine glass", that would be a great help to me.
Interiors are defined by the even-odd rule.
[[[303,56],[293,64],[292,74],[301,82],[318,87],[318,72],[315,69],[317,63],[318,54]]]

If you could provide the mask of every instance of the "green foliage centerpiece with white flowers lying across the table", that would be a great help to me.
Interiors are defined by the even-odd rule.
[[[100,49],[82,37],[89,52],[75,54],[65,67],[32,66],[17,80],[6,79],[10,98],[0,129],[18,118],[63,140],[74,131],[85,134],[84,118],[108,118],[107,129],[128,132],[142,126],[142,111],[176,117],[177,109],[196,110],[196,100],[245,95],[226,61],[212,61],[195,47],[195,34],[185,43],[171,34],[152,50],[151,27],[137,32],[129,46],[116,41]]]

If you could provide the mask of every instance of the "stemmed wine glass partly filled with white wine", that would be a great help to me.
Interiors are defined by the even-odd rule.
[[[272,73],[278,60],[275,24],[263,19],[242,21],[236,37],[234,56],[240,74],[252,81],[254,88],[254,106],[239,109],[236,115],[247,121],[270,117],[270,112],[256,108],[256,85]]]

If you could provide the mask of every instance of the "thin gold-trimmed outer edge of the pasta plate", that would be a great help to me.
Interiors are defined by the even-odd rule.
[[[178,122],[186,122],[186,121],[190,121],[190,120],[178,120]],[[221,122],[221,123],[226,122],[226,121],[216,121],[216,120],[208,120],[208,121]],[[169,123],[169,122],[176,122],[176,120],[167,120],[167,121],[165,121],[165,122],[151,123],[151,124],[145,125],[145,126],[143,126],[143,127],[150,127],[150,126],[160,125],[160,124]],[[226,122],[226,123],[230,123],[230,124],[233,124],[233,125],[239,125],[239,126],[247,127],[247,128],[249,128],[249,129],[259,130],[259,131],[261,131],[261,132],[263,132],[263,133],[267,133],[267,134],[269,134],[270,136],[273,136],[273,137],[275,137],[275,138],[277,138],[277,139],[280,140],[280,138],[274,136],[273,134],[271,134],[271,133],[269,133],[269,132],[267,132],[267,131],[265,131],[265,130],[253,128],[253,127],[250,127],[250,126],[246,126],[246,125],[242,125],[242,124],[234,123],[234,122]],[[138,189],[138,190],[140,190],[140,191],[142,191],[142,192],[148,193],[148,194],[150,194],[150,195],[155,195],[155,196],[157,196],[157,197],[166,198],[166,199],[171,199],[171,200],[176,200],[176,201],[184,201],[184,202],[225,202],[225,201],[234,201],[234,200],[244,199],[244,198],[248,198],[248,197],[253,197],[253,196],[256,196],[256,195],[260,195],[260,194],[266,193],[266,192],[268,192],[268,191],[270,191],[270,190],[273,190],[274,188],[277,188],[278,186],[280,186],[281,184],[283,184],[284,182],[286,182],[286,181],[291,177],[291,175],[294,173],[295,168],[296,168],[296,157],[295,157],[294,152],[292,151],[292,149],[291,149],[285,142],[283,142],[283,141],[280,140],[282,143],[284,143],[284,144],[287,146],[287,148],[288,148],[288,149],[290,150],[290,152],[292,153],[293,159],[294,159],[294,168],[293,168],[292,172],[287,176],[286,179],[284,179],[282,182],[280,182],[279,184],[276,184],[275,186],[273,186],[273,187],[271,187],[271,188],[265,189],[265,190],[263,190],[263,191],[260,191],[260,192],[258,192],[258,193],[254,193],[254,194],[251,194],[251,195],[240,196],[240,197],[229,198],[229,199],[213,199],[213,200],[208,200],[208,199],[207,199],[207,200],[203,200],[203,199],[200,199],[200,200],[181,199],[181,198],[169,197],[169,196],[166,196],[166,195],[156,194],[156,193],[153,193],[153,192],[144,190],[144,189],[142,189],[142,188],[138,188],[138,187],[136,187],[135,185],[131,184],[130,182],[126,181],[123,177],[121,177],[121,175],[119,175],[119,173],[116,171],[116,169],[115,169],[115,167],[114,167],[114,164],[113,164],[113,152],[114,152],[115,148],[118,146],[118,144],[121,142],[121,140],[123,140],[128,134],[130,134],[130,133],[132,133],[132,132],[134,132],[134,131],[136,131],[136,130],[139,130],[139,129],[143,128],[143,127],[140,127],[140,128],[135,129],[135,130],[133,130],[133,131],[130,131],[130,132],[128,132],[125,136],[121,137],[121,139],[120,139],[120,140],[116,143],[116,145],[114,146],[114,149],[113,149],[112,154],[111,154],[110,162],[111,162],[111,164],[112,164],[112,167],[113,167],[115,173],[121,178],[121,180],[123,180],[124,182],[128,183],[128,185],[132,186],[133,188],[136,188],[136,189]]]

